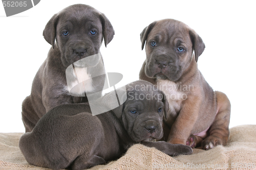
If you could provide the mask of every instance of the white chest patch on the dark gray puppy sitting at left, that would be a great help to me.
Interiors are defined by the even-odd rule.
[[[88,74],[86,67],[76,67],[72,73],[76,78],[68,87],[72,95],[84,96],[84,92],[92,92],[94,90],[91,75]]]

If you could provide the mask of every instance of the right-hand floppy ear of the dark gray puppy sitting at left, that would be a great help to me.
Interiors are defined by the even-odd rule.
[[[104,43],[105,47],[110,43],[110,41],[113,39],[115,35],[114,28],[112,27],[110,21],[104,14],[100,14],[99,16],[101,25],[102,25],[102,32],[103,32],[103,37],[104,37]]]

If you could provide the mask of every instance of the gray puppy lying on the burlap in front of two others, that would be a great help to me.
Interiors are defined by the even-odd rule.
[[[113,93],[104,95],[98,107],[111,106]],[[170,156],[192,153],[186,145],[150,141],[163,136],[162,118],[168,108],[163,92],[140,80],[126,85],[125,96],[122,105],[96,116],[88,103],[55,107],[20,138],[20,150],[30,164],[53,169],[105,164],[138,142]]]

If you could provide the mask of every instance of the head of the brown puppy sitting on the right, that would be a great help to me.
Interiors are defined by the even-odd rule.
[[[140,34],[145,45],[145,74],[150,78],[177,81],[191,63],[196,63],[205,45],[199,35],[183,22],[163,19],[151,23]],[[195,51],[195,59],[193,57]],[[195,60],[196,62],[193,62]]]

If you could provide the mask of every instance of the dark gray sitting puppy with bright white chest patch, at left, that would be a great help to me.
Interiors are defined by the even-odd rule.
[[[76,4],[53,15],[43,35],[52,47],[47,59],[37,71],[31,94],[22,104],[22,119],[26,132],[31,132],[39,118],[53,107],[87,102],[85,92],[90,94],[102,91],[105,76],[93,77],[95,72],[104,72],[103,63],[99,62],[102,61],[99,49],[103,38],[105,46],[113,39],[114,30],[104,14],[90,6]],[[99,54],[95,59],[97,62],[88,68],[82,68],[77,62],[95,54]],[[65,74],[66,68],[71,64],[76,67],[76,72],[82,72],[88,79],[93,78],[92,82],[85,85],[86,89],[80,91],[76,97],[69,93]],[[75,74],[72,75],[69,75],[70,79],[75,81]]]

